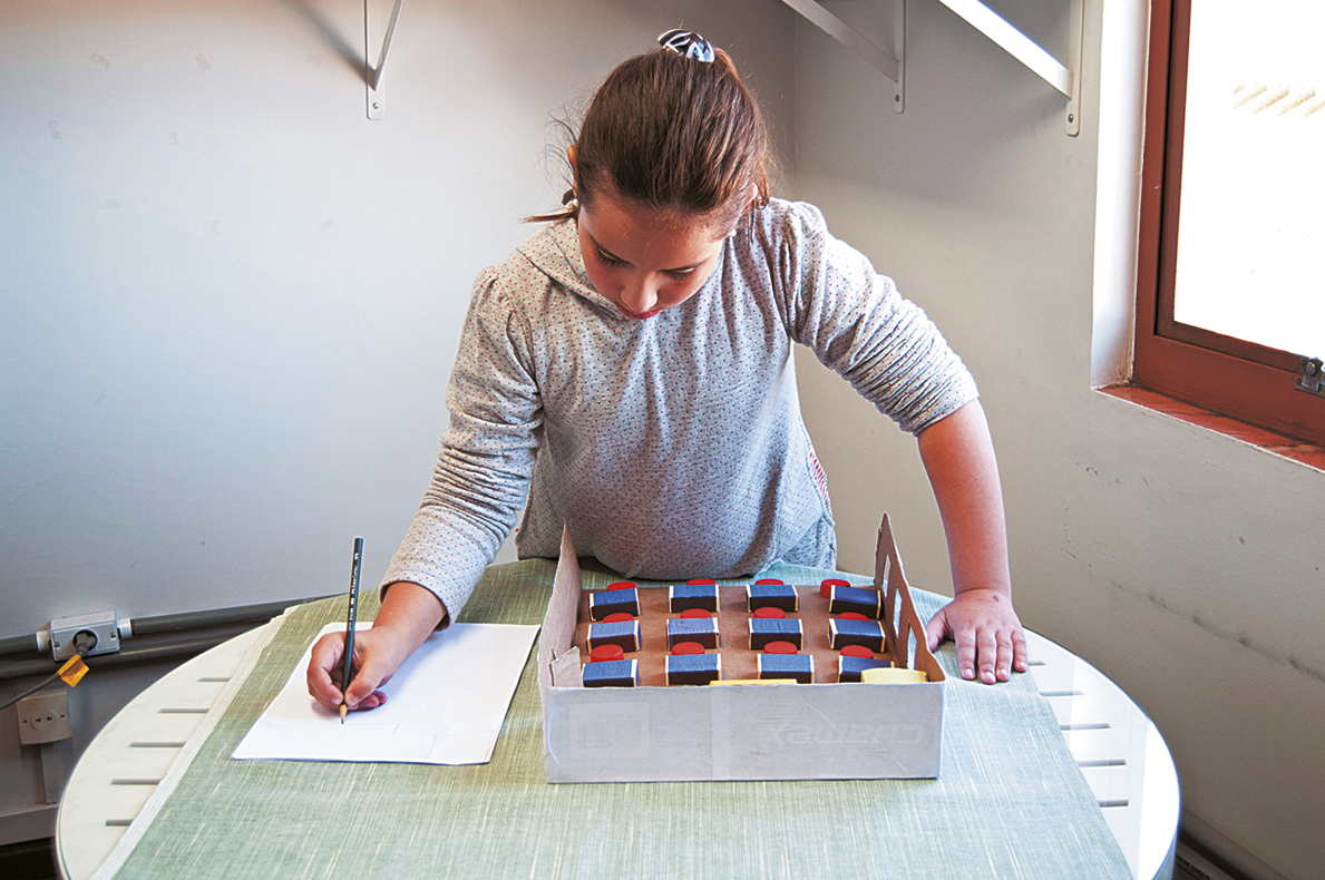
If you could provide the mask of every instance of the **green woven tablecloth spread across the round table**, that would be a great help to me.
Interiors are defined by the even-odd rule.
[[[458,619],[541,623],[554,569],[493,566]],[[584,573],[586,588],[608,579]],[[913,595],[922,618],[943,602]],[[1130,877],[1031,677],[962,681],[950,643],[939,779],[547,785],[534,653],[489,765],[231,759],[343,604],[284,618],[114,876]],[[360,619],[376,610],[366,592]]]

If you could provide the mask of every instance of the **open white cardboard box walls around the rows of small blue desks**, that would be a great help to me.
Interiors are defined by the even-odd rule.
[[[575,645],[582,580],[566,529],[538,644],[547,781],[937,777],[943,671],[925,644],[886,514],[874,588],[884,592],[885,659],[928,683],[586,688]]]

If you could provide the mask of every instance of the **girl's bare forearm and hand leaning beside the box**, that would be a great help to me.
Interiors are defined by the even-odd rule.
[[[973,400],[920,432],[920,456],[947,534],[957,598],[925,627],[930,651],[957,643],[963,679],[994,684],[1026,672],[1026,633],[1012,611],[1003,493],[984,410]]]

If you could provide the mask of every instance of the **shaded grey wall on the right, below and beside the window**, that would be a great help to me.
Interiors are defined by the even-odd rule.
[[[1067,3],[996,5],[1065,57],[1055,42]],[[902,115],[881,74],[798,25],[798,195],[894,276],[975,372],[1023,622],[1154,718],[1204,831],[1283,875],[1317,876],[1325,474],[1090,390],[1097,313],[1116,325],[1130,293],[1109,253],[1101,278],[1114,286],[1092,289],[1097,170],[1117,187],[1113,156],[1134,154],[1120,129],[1101,143],[1102,4],[1086,3],[1075,139],[1064,99],[965,21],[930,0],[908,15]],[[1142,34],[1125,30],[1109,52],[1130,57]],[[913,582],[950,591],[914,441],[812,359],[800,366],[840,563],[868,569],[885,508]]]

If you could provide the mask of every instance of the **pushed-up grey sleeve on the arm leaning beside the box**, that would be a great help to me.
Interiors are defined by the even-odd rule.
[[[779,309],[794,339],[904,431],[920,433],[978,395],[934,322],[892,278],[828,233],[808,204],[774,228]]]

